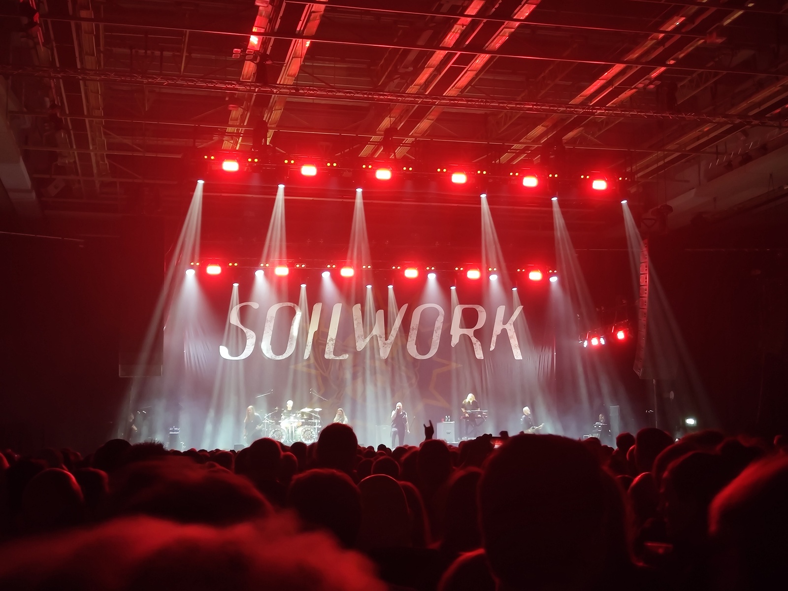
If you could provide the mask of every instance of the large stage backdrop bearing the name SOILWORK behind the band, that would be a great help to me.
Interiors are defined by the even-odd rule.
[[[422,423],[456,421],[469,392],[489,411],[486,433],[519,430],[524,404],[548,414],[552,286],[313,283],[184,280],[165,323],[165,375],[132,401],[142,435],[177,426],[188,446],[228,448],[248,405],[267,414],[287,400],[321,409],[324,426],[343,408],[363,444],[391,443],[397,402],[414,443]]]

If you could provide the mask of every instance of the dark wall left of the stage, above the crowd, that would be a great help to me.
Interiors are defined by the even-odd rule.
[[[89,452],[113,430],[117,243],[0,236],[0,447]]]

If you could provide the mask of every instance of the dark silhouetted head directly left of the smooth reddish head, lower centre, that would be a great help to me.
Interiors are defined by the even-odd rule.
[[[361,525],[361,493],[339,470],[307,470],[292,479],[288,507],[312,527],[325,527],[350,548]]]

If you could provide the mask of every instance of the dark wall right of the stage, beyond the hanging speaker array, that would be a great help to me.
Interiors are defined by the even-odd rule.
[[[788,261],[782,227],[731,220],[651,244],[652,264],[686,342],[706,424],[771,436],[788,431]]]

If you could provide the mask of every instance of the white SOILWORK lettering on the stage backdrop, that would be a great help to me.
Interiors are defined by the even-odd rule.
[[[244,306],[249,306],[256,310],[259,307],[259,304],[256,302],[243,302],[239,303],[237,306],[232,307],[232,310],[230,310],[229,323],[243,330],[243,333],[246,336],[246,345],[240,355],[230,355],[229,349],[225,347],[225,345],[221,345],[219,347],[219,355],[221,355],[222,359],[229,359],[232,361],[247,359],[247,357],[251,355],[251,352],[255,348],[255,331],[247,328],[247,326],[241,324],[240,322],[240,310]],[[295,314],[293,315],[292,321],[290,323],[287,346],[284,348],[284,352],[281,355],[277,355],[271,348],[271,341],[273,340],[273,327],[277,321],[277,311],[286,307],[292,308]],[[349,357],[348,353],[341,353],[340,355],[335,355],[334,353],[336,348],[336,337],[337,333],[339,333],[340,320],[342,318],[342,307],[343,304],[336,303],[331,310],[329,332],[325,339],[325,359],[341,360],[348,359]],[[437,310],[437,318],[435,318],[435,325],[432,328],[432,334],[429,338],[429,351],[422,354],[419,353],[418,349],[416,348],[416,338],[418,336],[419,329],[421,328],[422,312],[427,309]],[[477,318],[473,326],[462,326],[463,310],[466,309],[473,309],[476,311]],[[365,336],[361,304],[355,304],[355,306],[352,307],[352,317],[356,351],[362,351],[364,348],[366,348],[367,344],[369,344],[370,340],[372,340],[372,337],[375,336],[377,337],[378,355],[380,355],[381,359],[387,359],[388,354],[391,352],[394,339],[400,332],[400,326],[403,323],[406,310],[407,304],[403,305],[400,310],[397,310],[396,318],[392,323],[388,337],[385,333],[385,314],[383,310],[376,310],[374,317],[375,322],[372,330],[368,335]],[[320,329],[321,312],[322,303],[314,304],[309,322],[309,328],[307,329],[307,342],[303,351],[303,359],[309,359],[312,353],[314,335],[318,332],[318,329]],[[517,318],[519,318],[521,312],[522,306],[517,307],[511,314],[508,322],[504,323],[506,306],[498,307],[496,310],[495,323],[492,327],[492,336],[490,338],[489,348],[490,351],[495,350],[498,335],[500,335],[500,333],[505,330],[507,336],[509,337],[509,344],[511,344],[512,355],[514,355],[515,359],[522,359],[520,344],[517,340],[517,334],[515,333],[515,321]],[[303,313],[298,305],[292,302],[275,303],[273,306],[269,307],[266,313],[266,322],[263,328],[262,338],[260,340],[260,349],[263,355],[269,359],[286,359],[293,354],[293,351],[296,350],[296,342],[298,340],[302,314]],[[423,303],[422,305],[414,308],[411,314],[410,329],[407,332],[407,352],[411,355],[411,357],[414,359],[429,359],[437,353],[438,347],[440,345],[440,336],[443,334],[444,318],[444,309],[438,306],[436,303]],[[470,344],[474,348],[474,355],[476,356],[476,359],[484,359],[485,356],[481,341],[478,339],[478,336],[476,336],[476,333],[481,330],[486,321],[487,311],[481,306],[475,304],[455,306],[452,312],[452,325],[450,331],[452,335],[452,347],[456,347],[457,344],[459,344],[460,336],[467,336],[468,339],[470,339]]]

